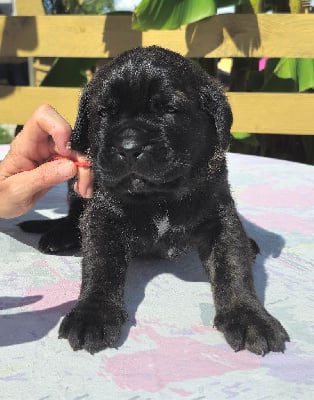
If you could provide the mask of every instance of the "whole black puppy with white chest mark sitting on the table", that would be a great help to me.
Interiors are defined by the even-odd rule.
[[[117,345],[132,257],[195,248],[212,285],[214,324],[230,346],[284,351],[289,337],[257,299],[251,266],[258,248],[229,190],[231,123],[216,80],[162,48],[123,53],[87,85],[72,148],[90,157],[94,196],[84,205],[70,190],[69,215],[40,241],[45,252],[78,245],[84,209],[81,293],[60,327],[74,350]]]

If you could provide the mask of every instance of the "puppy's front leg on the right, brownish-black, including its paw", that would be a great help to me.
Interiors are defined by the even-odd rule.
[[[289,336],[258,300],[251,272],[256,245],[245,234],[233,204],[221,212],[216,239],[207,238],[200,256],[212,285],[216,317],[214,325],[235,350],[264,355],[283,352]]]

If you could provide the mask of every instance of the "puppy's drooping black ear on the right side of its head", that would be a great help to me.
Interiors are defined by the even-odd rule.
[[[233,118],[222,85],[210,78],[201,87],[199,96],[201,108],[214,119],[219,144],[224,150],[227,150],[231,142],[230,129]]]

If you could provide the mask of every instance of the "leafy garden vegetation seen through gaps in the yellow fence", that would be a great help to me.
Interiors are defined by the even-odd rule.
[[[302,13],[300,0],[42,0],[47,14],[133,13],[133,29],[178,29],[221,12]],[[135,8],[134,8],[135,7]],[[226,8],[227,7],[227,8]],[[210,38],[209,38],[210,40]],[[43,86],[82,86],[99,60],[60,58],[53,62]],[[314,92],[313,59],[235,58],[230,70],[220,69],[218,59],[196,59],[230,91]],[[262,61],[262,62],[261,62]],[[263,65],[263,67],[261,67]],[[309,118],[313,118],[309,115]],[[230,150],[314,164],[314,136],[232,132]],[[1,139],[1,136],[4,139]],[[0,130],[0,140],[7,133]]]

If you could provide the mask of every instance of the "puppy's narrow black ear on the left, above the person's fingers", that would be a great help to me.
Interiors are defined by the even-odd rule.
[[[89,88],[85,87],[80,99],[79,110],[71,136],[71,148],[86,153],[89,148]]]

